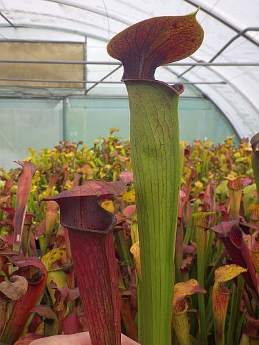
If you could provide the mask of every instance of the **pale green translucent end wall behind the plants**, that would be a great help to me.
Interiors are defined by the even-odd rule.
[[[92,146],[98,137],[119,128],[119,137],[129,137],[126,97],[64,99],[1,99],[0,167],[29,155],[28,148],[51,148],[61,140]],[[211,101],[180,98],[180,138],[191,144],[208,139],[218,144],[236,132]],[[236,142],[238,138],[236,137]]]

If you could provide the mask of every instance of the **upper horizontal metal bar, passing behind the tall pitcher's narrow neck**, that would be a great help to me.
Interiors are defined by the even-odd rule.
[[[57,60],[7,60],[2,59],[0,63],[52,63],[59,65],[107,65],[121,66],[117,61],[57,61]],[[165,66],[259,66],[259,61],[251,62],[174,62]]]

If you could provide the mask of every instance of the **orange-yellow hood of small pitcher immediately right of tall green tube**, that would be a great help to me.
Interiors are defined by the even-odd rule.
[[[194,293],[207,293],[207,291],[204,290],[204,288],[202,288],[195,279],[175,284],[173,304],[177,304],[181,299],[184,299],[186,296],[193,295]]]

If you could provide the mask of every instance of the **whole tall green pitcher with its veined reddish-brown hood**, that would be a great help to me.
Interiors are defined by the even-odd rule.
[[[154,73],[199,48],[203,30],[195,15],[141,21],[113,37],[107,47],[123,63],[131,111],[144,320],[139,341],[144,345],[171,344],[180,184],[178,98],[184,90],[181,84],[155,80]]]

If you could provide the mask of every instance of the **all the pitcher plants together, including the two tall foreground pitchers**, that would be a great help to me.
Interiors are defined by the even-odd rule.
[[[259,342],[259,135],[180,141],[184,87],[154,77],[202,39],[196,12],[120,32],[130,141],[112,128],[0,169],[2,343]]]

